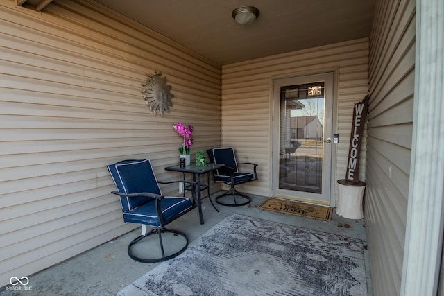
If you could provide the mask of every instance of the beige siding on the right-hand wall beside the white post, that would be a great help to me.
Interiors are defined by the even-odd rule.
[[[415,1],[376,1],[370,37],[365,207],[375,295],[400,295],[414,65]]]

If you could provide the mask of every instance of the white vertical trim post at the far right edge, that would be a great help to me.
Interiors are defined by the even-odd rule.
[[[415,91],[400,295],[437,295],[444,230],[444,6],[416,1]]]

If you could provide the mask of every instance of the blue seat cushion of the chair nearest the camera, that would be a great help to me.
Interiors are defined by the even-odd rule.
[[[160,208],[164,217],[164,223],[167,225],[171,220],[193,207],[189,198],[174,198],[166,196],[160,200]],[[123,220],[129,223],[141,223],[151,227],[161,227],[159,218],[155,210],[155,200],[133,209],[123,212]]]

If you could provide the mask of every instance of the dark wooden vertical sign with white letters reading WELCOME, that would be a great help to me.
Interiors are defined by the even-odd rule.
[[[367,105],[368,96],[361,102],[355,103],[355,109],[353,110],[347,172],[345,173],[345,179],[352,182],[359,182],[359,153],[361,152],[361,138],[367,118]]]

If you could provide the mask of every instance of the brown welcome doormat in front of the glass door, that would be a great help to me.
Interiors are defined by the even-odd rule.
[[[288,200],[278,200],[275,198],[267,198],[258,206],[258,208],[323,221],[332,220],[333,213],[333,208],[331,207],[322,207],[314,204],[305,204],[302,202],[291,202]]]

